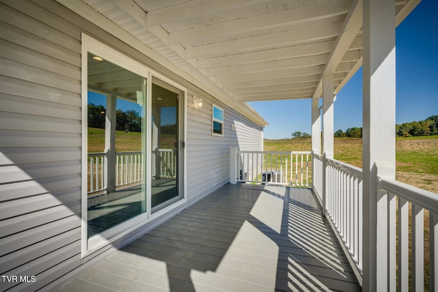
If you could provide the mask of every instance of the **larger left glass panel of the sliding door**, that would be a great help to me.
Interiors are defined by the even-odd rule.
[[[146,212],[146,84],[88,53],[88,238]]]

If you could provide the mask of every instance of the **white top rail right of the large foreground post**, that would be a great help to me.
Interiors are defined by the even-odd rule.
[[[395,179],[379,178],[378,185],[381,189],[391,192],[414,204],[438,214],[438,195],[413,185],[408,185]]]

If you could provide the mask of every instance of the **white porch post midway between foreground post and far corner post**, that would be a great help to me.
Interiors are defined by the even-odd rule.
[[[333,73],[322,77],[322,215],[326,215],[327,169],[326,159],[333,159]]]

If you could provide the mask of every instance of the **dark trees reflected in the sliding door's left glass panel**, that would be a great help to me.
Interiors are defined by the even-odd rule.
[[[88,127],[105,129],[105,107],[88,103]],[[142,131],[142,118],[137,111],[129,109],[122,111],[116,110],[116,130],[117,131]]]

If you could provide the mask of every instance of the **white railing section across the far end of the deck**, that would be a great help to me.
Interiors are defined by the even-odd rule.
[[[236,161],[232,177],[244,183],[292,185],[310,184],[311,152],[309,151],[238,151],[232,148]]]

